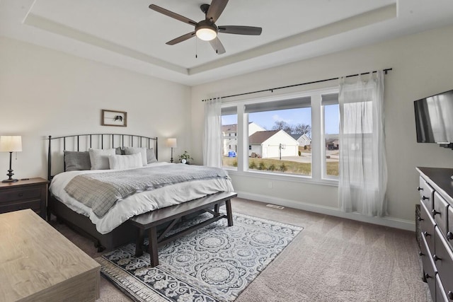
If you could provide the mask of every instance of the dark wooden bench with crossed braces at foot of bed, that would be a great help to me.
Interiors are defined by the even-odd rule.
[[[233,216],[231,214],[231,198],[234,198],[237,195],[238,194],[235,192],[219,192],[199,199],[194,199],[190,202],[184,202],[176,206],[166,207],[132,217],[129,219],[130,223],[139,228],[139,238],[137,239],[135,256],[138,257],[143,255],[143,241],[145,235],[147,235],[149,239],[148,250],[151,267],[155,267],[156,265],[159,265],[159,256],[157,255],[157,248],[159,248],[159,246],[165,245],[171,240],[175,240],[176,238],[195,231],[197,228],[202,228],[203,226],[207,226],[208,224],[222,218],[227,219],[228,226],[232,226]],[[226,205],[226,214],[219,212],[219,207],[223,203]],[[214,211],[211,210],[212,207],[214,207]],[[166,236],[168,231],[171,231],[173,226],[175,226],[181,217],[200,210],[209,212],[213,215],[212,218],[202,221],[194,226],[190,226],[189,228],[179,231],[171,236]],[[162,233],[159,234],[158,237],[157,227],[168,221],[171,221],[171,223]]]

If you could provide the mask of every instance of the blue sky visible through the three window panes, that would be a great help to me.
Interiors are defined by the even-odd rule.
[[[324,106],[326,134],[339,133],[338,105]],[[311,125],[311,108],[274,110],[248,114],[248,122],[255,122],[261,127],[272,130],[275,122],[284,121],[290,125]],[[236,115],[222,115],[222,124],[237,124]]]

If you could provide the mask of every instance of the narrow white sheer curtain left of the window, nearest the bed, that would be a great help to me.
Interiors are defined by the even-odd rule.
[[[205,139],[203,165],[222,167],[222,100],[213,98],[205,102]]]

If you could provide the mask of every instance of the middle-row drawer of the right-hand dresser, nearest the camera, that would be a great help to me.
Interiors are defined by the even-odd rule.
[[[439,277],[442,279],[445,293],[453,291],[453,252],[437,227],[435,231],[435,255],[432,256],[432,259],[435,262]]]

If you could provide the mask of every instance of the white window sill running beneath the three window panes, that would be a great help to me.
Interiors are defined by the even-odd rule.
[[[338,187],[338,180],[336,179],[321,179],[314,180],[311,176],[294,175],[294,174],[282,174],[282,173],[265,173],[255,171],[238,171],[228,168],[224,168],[228,171],[229,175],[246,176],[251,178],[263,178],[265,180],[277,180],[277,181],[289,181],[289,182],[303,182],[313,185],[330,185]]]

